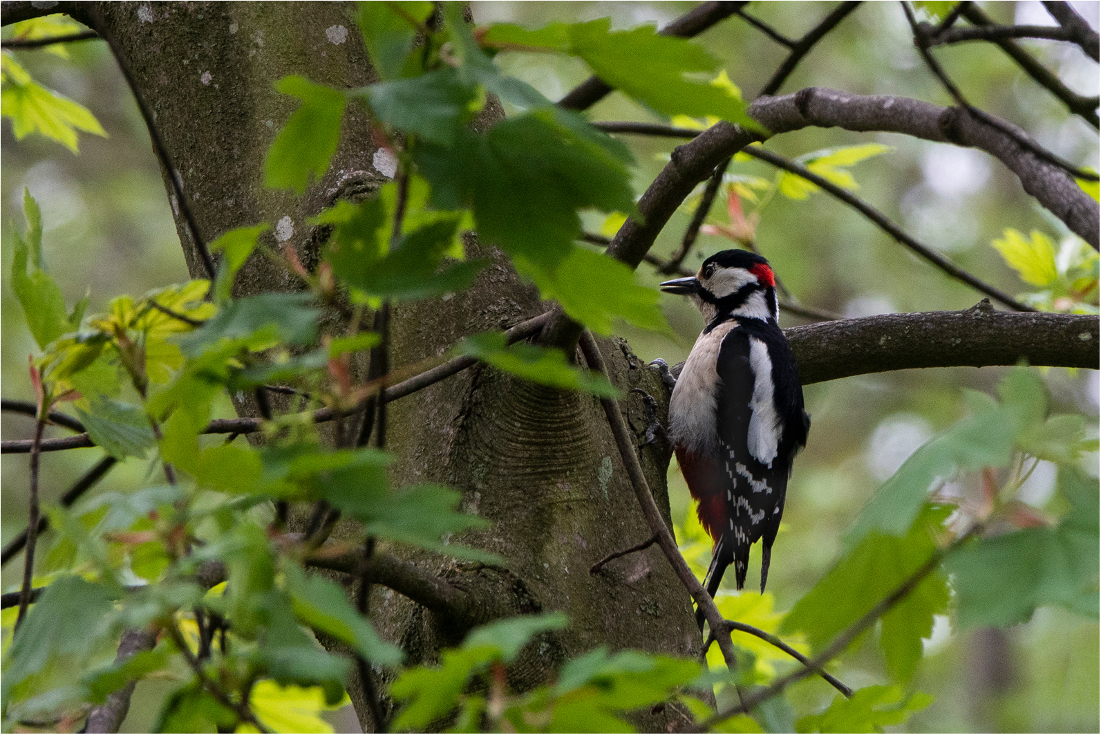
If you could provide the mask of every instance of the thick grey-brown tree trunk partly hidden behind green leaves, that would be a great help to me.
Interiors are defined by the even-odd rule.
[[[264,188],[265,152],[296,105],[273,84],[288,74],[337,88],[370,84],[373,73],[351,8],[266,2],[94,8],[100,15],[89,17],[116,40],[155,112],[204,239],[243,225],[281,223],[277,238],[293,244],[307,267],[317,263],[324,233],[312,228],[309,218],[341,196],[369,194],[383,173],[373,165],[368,116],[350,105],[340,148],[320,182],[302,197]],[[500,107],[491,106],[481,122],[500,117]],[[190,273],[204,278],[178,206],[173,209]],[[264,237],[268,245],[276,244],[275,235]],[[253,257],[238,278],[237,293],[295,288],[287,274]],[[498,256],[465,292],[400,304],[391,322],[390,364],[438,357],[465,335],[500,329],[543,309],[535,291]],[[323,325],[326,332],[342,327],[337,315]],[[662,381],[625,343],[609,339],[601,347],[621,389],[639,387],[658,398],[659,406],[667,403]],[[620,404],[641,444],[643,402],[628,396]],[[257,414],[249,401],[238,410]],[[396,457],[396,486],[433,482],[461,490],[465,508],[492,527],[454,541],[492,551],[506,560],[506,568],[426,552],[393,553],[456,586],[479,591],[488,617],[531,610],[569,615],[567,630],[531,647],[513,668],[516,687],[545,681],[563,660],[599,645],[698,653],[690,599],[656,547],[589,574],[603,555],[651,536],[597,399],[478,366],[391,404],[388,448]],[[667,517],[668,448],[651,444],[642,460]],[[347,523],[336,531],[338,538],[355,533]],[[456,644],[465,633],[378,586],[371,609],[382,635],[400,644],[411,663],[435,661],[439,647]],[[351,694],[361,723],[370,727],[358,681]],[[639,724],[665,729],[673,724],[667,716],[641,714]]]

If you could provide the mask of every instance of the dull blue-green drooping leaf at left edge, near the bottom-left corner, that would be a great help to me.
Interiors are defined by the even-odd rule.
[[[3,662],[4,700],[13,687],[42,670],[51,657],[87,653],[107,630],[111,593],[78,576],[54,581],[15,631]],[[74,621],[80,624],[74,627]]]

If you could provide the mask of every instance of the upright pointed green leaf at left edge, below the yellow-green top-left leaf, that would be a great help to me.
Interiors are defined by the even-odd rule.
[[[7,56],[7,54],[6,54]],[[42,215],[31,192],[23,190],[26,239],[13,231],[15,252],[11,261],[11,288],[23,307],[31,335],[45,348],[47,344],[79,325],[69,321],[65,298],[54,280],[43,270]]]

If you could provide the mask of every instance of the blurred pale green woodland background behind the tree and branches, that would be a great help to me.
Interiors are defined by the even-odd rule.
[[[473,2],[475,20],[538,26],[552,21],[584,21],[610,15],[614,28],[640,23],[664,25],[691,9],[688,2]],[[798,37],[835,3],[754,2],[749,12]],[[985,2],[1000,22],[1051,25],[1039,2]],[[1094,28],[1098,2],[1072,3]],[[785,50],[732,18],[699,40],[720,58],[730,76],[752,99],[785,56]],[[1080,48],[1050,41],[1023,41],[1060,79],[1079,94],[1098,94],[1098,66]],[[9,285],[13,227],[24,228],[24,187],[39,201],[45,226],[44,258],[69,304],[91,293],[89,313],[102,310],[121,293],[181,282],[187,271],[172,221],[164,185],[149,136],[106,46],[99,41],[68,45],[69,60],[43,51],[19,52],[18,58],[41,84],[87,106],[109,137],[80,137],[80,153],[42,138],[17,143],[4,122],[2,140],[2,393],[33,400],[26,357],[35,352],[21,307]],[[1025,76],[989,44],[958,44],[934,51],[970,101],[1010,120],[1049,150],[1071,162],[1098,166],[1098,133],[1069,115],[1061,102]],[[580,62],[553,55],[506,54],[500,63],[552,99],[588,76]],[[864,3],[803,61],[782,93],[822,86],[858,94],[895,94],[936,104],[951,100],[929,75],[911,43],[896,3]],[[612,94],[591,110],[593,120],[654,121],[645,109]],[[634,152],[639,193],[653,180],[677,141],[623,137]],[[861,134],[807,129],[768,141],[770,150],[795,158],[838,145],[881,142],[892,151],[851,169],[859,195],[922,242],[1011,294],[1031,289],[1009,269],[991,241],[1005,228],[1037,229],[1056,242],[1066,228],[1027,196],[1014,174],[986,154],[938,145],[890,133]],[[729,173],[773,181],[775,171],[759,162],[735,162]],[[752,210],[751,202],[744,204]],[[723,220],[723,203],[713,215]],[[802,304],[844,316],[957,310],[980,294],[949,280],[911,256],[879,228],[828,194],[806,199],[772,197],[760,210],[756,245],[772,261],[787,289]],[[688,224],[690,209],[678,213],[654,252],[673,252]],[[593,215],[587,228],[599,231]],[[696,270],[708,255],[732,247],[729,240],[701,235],[685,266]],[[664,278],[643,264],[641,282]],[[634,350],[645,359],[683,360],[701,326],[695,309],[680,298],[663,296],[673,338],[623,327]],[[792,326],[807,320],[782,317]],[[770,591],[778,610],[798,597],[836,560],[840,538],[875,487],[927,439],[962,415],[961,389],[992,391],[1001,368],[907,370],[809,386],[814,418],[806,452],[796,462],[788,490],[785,525],[776,541]],[[1051,369],[1045,379],[1056,413],[1098,415],[1098,374]],[[25,439],[30,419],[3,414],[3,439]],[[50,430],[47,430],[50,431]],[[56,430],[54,430],[56,431]],[[48,434],[47,434],[48,435]],[[56,433],[54,435],[63,435]],[[52,501],[99,457],[98,450],[45,455],[42,493]],[[1097,454],[1087,471],[1097,476]],[[8,455],[2,465],[2,540],[26,519],[26,457]],[[102,489],[126,490],[144,480],[144,463],[129,461],[110,475]],[[674,464],[669,472],[674,519],[689,511],[689,498]],[[1025,488],[1029,502],[1043,507],[1054,489],[1054,467],[1042,463]],[[759,552],[755,552],[755,554]],[[756,566],[756,555],[753,565]],[[18,564],[3,571],[4,591],[18,583]],[[853,580],[860,584],[860,580]],[[926,641],[926,659],[916,688],[936,695],[929,709],[906,726],[912,732],[1098,732],[1099,637],[1097,621],[1056,608],[1043,608],[1032,621],[1009,630],[959,634],[939,619]],[[839,675],[852,687],[887,680],[881,655],[863,645],[849,656]],[[155,685],[154,685],[155,689]],[[153,716],[149,698],[135,696],[128,728],[139,732]],[[152,693],[152,689],[150,693]],[[793,698],[821,706],[830,690],[802,685]],[[146,714],[144,709],[151,711]],[[352,727],[355,718],[340,717]]]

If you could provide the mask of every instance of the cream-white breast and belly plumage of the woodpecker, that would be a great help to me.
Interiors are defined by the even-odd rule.
[[[719,448],[716,418],[719,374],[715,366],[723,338],[735,326],[738,322],[731,320],[699,335],[669,399],[673,442],[698,454],[713,454]]]

